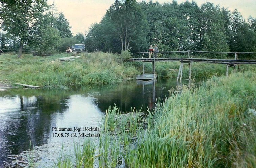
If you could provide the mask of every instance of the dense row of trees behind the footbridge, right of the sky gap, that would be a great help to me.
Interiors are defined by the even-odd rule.
[[[115,0],[101,22],[91,25],[85,45],[111,52],[146,52],[155,43],[161,51],[256,52],[255,28],[255,18],[246,21],[237,10],[209,2]]]

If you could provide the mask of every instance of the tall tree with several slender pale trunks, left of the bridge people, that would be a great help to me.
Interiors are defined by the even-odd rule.
[[[112,31],[122,50],[132,49],[131,43],[146,42],[147,20],[136,0],[115,0],[105,17],[113,25]]]

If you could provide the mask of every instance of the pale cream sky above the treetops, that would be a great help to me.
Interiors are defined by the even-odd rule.
[[[99,23],[106,13],[106,10],[114,3],[115,0],[48,0],[48,4],[55,4],[58,13],[63,12],[65,18],[72,26],[73,35],[88,31],[93,23]],[[137,0],[140,2],[141,0]],[[147,2],[149,0],[146,0]],[[152,0],[156,2],[157,0]],[[178,4],[186,0],[177,0]],[[191,2],[192,0],[188,0]],[[256,18],[256,0],[194,0],[198,6],[206,2],[219,5],[221,8],[228,8],[230,11],[235,9],[240,12],[244,19],[251,15]],[[172,0],[158,0],[159,3],[172,3]]]

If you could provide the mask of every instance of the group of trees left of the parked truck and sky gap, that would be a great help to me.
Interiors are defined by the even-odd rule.
[[[0,48],[19,50],[18,57],[24,49],[57,53],[81,43],[64,14],[47,0],[0,0],[0,24]]]

